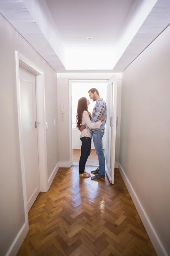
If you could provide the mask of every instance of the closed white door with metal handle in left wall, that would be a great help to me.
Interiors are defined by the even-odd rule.
[[[20,109],[28,211],[40,193],[35,75],[20,67]]]

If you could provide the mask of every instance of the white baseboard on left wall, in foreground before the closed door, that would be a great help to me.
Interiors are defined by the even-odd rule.
[[[21,245],[23,244],[26,235],[28,234],[29,227],[28,222],[23,224],[23,227],[20,229],[19,233],[17,234],[14,242],[12,243],[11,247],[9,248],[6,256],[16,256],[18,251],[20,250]]]

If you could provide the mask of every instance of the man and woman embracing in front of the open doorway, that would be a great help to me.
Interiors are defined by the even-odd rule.
[[[88,111],[89,100],[82,97],[77,106],[77,129],[81,131],[80,140],[82,141],[81,156],[79,159],[79,176],[89,178],[90,173],[85,172],[85,164],[91,153],[91,139],[93,137],[94,147],[99,160],[99,168],[91,171],[95,175],[93,180],[105,179],[105,155],[103,153],[102,137],[105,132],[106,123],[106,103],[99,96],[96,88],[91,88],[89,97],[96,101],[92,114]]]

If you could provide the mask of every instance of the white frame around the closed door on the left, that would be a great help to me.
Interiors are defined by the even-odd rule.
[[[46,129],[45,129],[45,83],[44,83],[44,71],[41,70],[39,67],[37,67],[34,63],[29,61],[25,56],[23,56],[18,51],[15,51],[15,61],[16,61],[18,130],[19,130],[19,141],[20,141],[20,163],[21,163],[21,172],[22,172],[22,183],[23,183],[25,221],[28,222],[26,177],[25,177],[25,167],[24,167],[23,135],[22,135],[21,106],[20,106],[20,75],[19,75],[20,67],[28,70],[30,73],[33,73],[35,75],[37,121],[40,122],[40,125],[38,126],[38,129],[37,129],[40,192],[47,192],[48,190],[47,146],[46,146]]]

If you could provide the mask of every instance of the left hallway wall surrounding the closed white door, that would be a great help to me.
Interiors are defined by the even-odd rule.
[[[0,15],[0,255],[6,255],[25,221],[21,180],[15,50],[45,70],[48,177],[58,163],[56,72]]]

